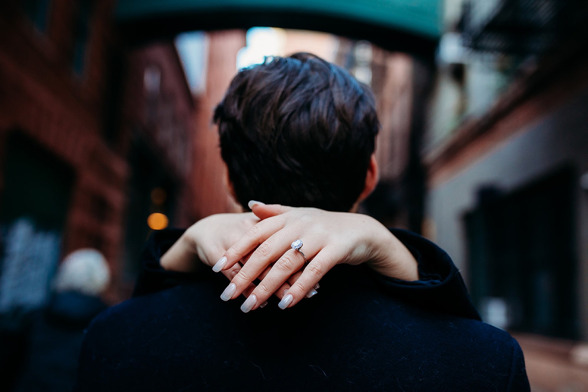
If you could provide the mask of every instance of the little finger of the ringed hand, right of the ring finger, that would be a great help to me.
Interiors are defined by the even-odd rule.
[[[306,294],[313,289],[315,284],[325,276],[325,274],[336,264],[335,249],[331,250],[328,247],[321,250],[303,270],[300,277],[292,286],[288,293],[283,296],[278,304],[280,309],[292,307],[303,299]],[[253,290],[255,292],[255,290]]]

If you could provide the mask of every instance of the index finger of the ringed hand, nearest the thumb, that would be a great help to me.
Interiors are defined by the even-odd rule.
[[[212,267],[212,270],[219,272],[220,270],[229,269],[235,265],[235,263],[239,262],[239,260],[242,260],[246,254],[260,246],[260,244],[272,236],[272,234],[281,230],[283,225],[284,220],[277,219],[277,217],[262,220],[257,223],[243,234],[233,246],[226,250],[223,257],[220,257],[220,260],[216,262],[214,267]]]

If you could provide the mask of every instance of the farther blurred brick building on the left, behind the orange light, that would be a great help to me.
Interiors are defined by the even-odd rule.
[[[124,282],[132,284],[152,229],[187,227],[195,220],[190,182],[196,108],[172,40],[131,48],[121,60],[122,80],[114,85],[122,91],[113,102],[120,110],[114,115],[119,124],[113,127],[118,130],[113,145],[125,156],[129,172],[120,262]],[[163,214],[167,224],[148,226],[152,214]]]

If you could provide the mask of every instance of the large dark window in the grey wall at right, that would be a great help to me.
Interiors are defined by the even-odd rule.
[[[485,189],[465,216],[471,293],[486,321],[577,337],[573,173],[559,170],[506,195]]]

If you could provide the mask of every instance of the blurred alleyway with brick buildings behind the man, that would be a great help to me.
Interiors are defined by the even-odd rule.
[[[264,20],[288,28],[245,29],[222,9],[141,25],[123,18],[133,4],[0,5],[9,386],[27,360],[31,314],[51,301],[68,254],[103,254],[101,298],[115,304],[131,295],[153,230],[239,210],[212,110],[239,68],[306,51],[376,95],[381,181],[361,211],[452,256],[483,319],[519,340],[533,390],[588,391],[585,2],[445,0],[429,46],[359,28],[336,35],[351,31],[336,20],[292,29],[305,25],[287,12]]]

